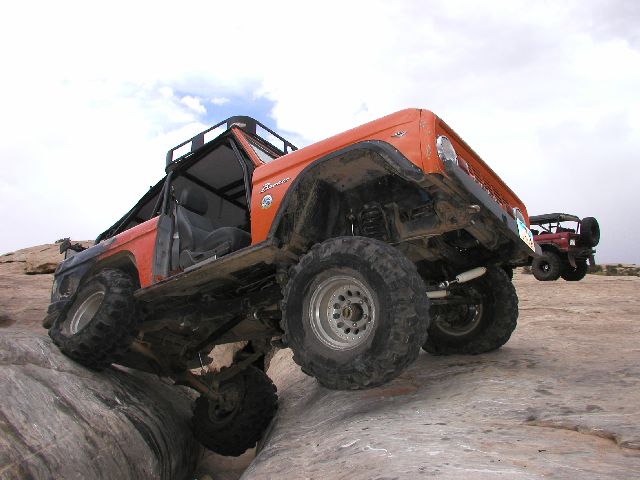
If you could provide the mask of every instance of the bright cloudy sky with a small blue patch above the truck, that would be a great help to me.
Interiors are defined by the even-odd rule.
[[[10,6],[8,6],[10,5]],[[0,253],[94,238],[231,114],[301,146],[435,111],[530,214],[595,216],[640,263],[640,2],[9,2]]]

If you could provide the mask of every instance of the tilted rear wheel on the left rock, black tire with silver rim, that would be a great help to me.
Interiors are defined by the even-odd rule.
[[[85,367],[102,370],[122,357],[138,326],[136,284],[121,270],[101,270],[80,286],[68,311],[49,336],[62,353]]]

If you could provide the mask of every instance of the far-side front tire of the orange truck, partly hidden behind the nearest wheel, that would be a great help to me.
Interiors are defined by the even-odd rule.
[[[507,343],[518,321],[518,296],[502,268],[491,267],[476,280],[452,286],[451,293],[472,303],[432,307],[423,346],[427,352],[476,355]]]

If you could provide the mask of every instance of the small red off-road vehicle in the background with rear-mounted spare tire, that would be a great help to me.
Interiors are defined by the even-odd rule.
[[[530,218],[535,242],[542,255],[531,260],[531,272],[546,282],[562,277],[568,282],[582,280],[587,274],[587,260],[595,265],[593,249],[600,242],[600,226],[593,217],[582,220],[566,213],[547,213]]]

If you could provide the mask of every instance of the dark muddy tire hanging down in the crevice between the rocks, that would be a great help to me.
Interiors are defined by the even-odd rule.
[[[205,396],[198,397],[193,433],[208,449],[237,457],[256,445],[276,414],[276,386],[266,373],[250,366],[222,382],[219,391],[235,396],[231,409],[223,409]]]

